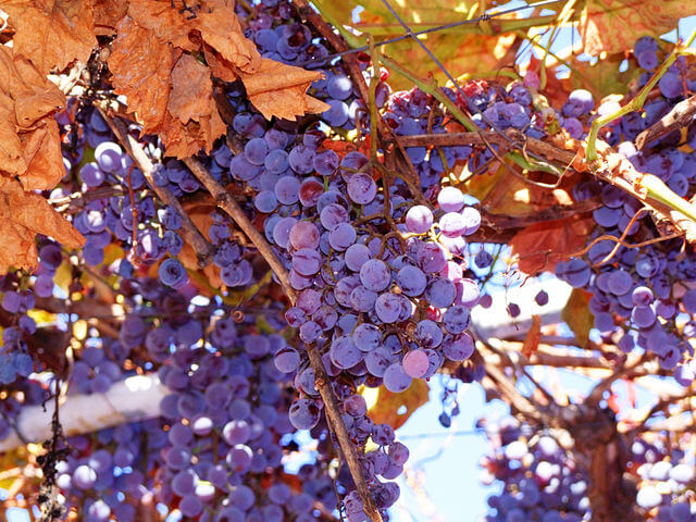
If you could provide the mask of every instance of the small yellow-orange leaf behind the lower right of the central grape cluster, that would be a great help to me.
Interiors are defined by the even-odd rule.
[[[363,397],[368,402],[370,419],[375,424],[388,424],[395,430],[401,427],[409,420],[415,410],[427,402],[430,386],[422,378],[414,378],[406,390],[395,394],[387,388],[364,388]],[[401,407],[406,408],[403,413],[399,413]]]

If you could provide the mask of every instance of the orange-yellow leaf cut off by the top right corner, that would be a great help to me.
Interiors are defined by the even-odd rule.
[[[633,48],[641,36],[658,37],[696,14],[696,0],[589,0],[582,12],[584,51],[593,57]]]

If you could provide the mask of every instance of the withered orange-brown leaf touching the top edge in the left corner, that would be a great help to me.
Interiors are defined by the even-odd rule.
[[[97,45],[90,0],[0,0],[0,9],[16,29],[15,52],[42,74],[86,63]]]

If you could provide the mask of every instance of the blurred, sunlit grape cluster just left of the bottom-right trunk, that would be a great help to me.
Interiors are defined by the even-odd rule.
[[[481,481],[485,485],[502,483],[502,492],[488,498],[495,512],[485,520],[592,520],[587,475],[566,449],[572,446],[568,433],[536,433],[510,417],[485,427],[493,452],[481,461]]]

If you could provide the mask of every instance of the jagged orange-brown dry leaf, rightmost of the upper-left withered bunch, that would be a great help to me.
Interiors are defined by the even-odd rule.
[[[311,83],[322,77],[319,72],[263,58],[252,74],[240,73],[240,76],[249,100],[266,120],[273,116],[295,120],[306,113],[330,109],[326,103],[307,94]]]

